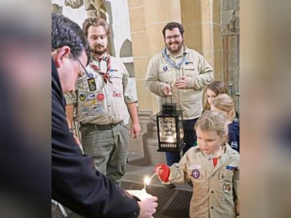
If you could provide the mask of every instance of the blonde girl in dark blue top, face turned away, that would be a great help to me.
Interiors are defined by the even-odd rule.
[[[239,152],[239,120],[235,113],[233,99],[227,94],[220,94],[213,99],[211,110],[223,112],[228,120],[228,144]]]

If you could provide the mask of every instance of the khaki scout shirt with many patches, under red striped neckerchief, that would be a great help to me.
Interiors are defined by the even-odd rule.
[[[107,72],[106,57],[101,62],[91,58],[86,67],[88,75],[78,78],[77,92],[66,94],[67,105],[77,103],[76,121],[82,124],[108,125],[116,124],[125,118],[125,103],[137,102],[129,84],[129,73],[118,58],[110,57],[110,79],[112,83],[105,83],[103,75],[91,67],[91,63],[98,66],[102,72]],[[96,90],[90,91],[87,79],[94,78]]]

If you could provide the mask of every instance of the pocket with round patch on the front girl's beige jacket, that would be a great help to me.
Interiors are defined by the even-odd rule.
[[[223,195],[233,196],[233,171],[221,170],[219,172],[219,190]]]

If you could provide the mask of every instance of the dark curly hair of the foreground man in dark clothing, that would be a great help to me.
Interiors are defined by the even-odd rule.
[[[52,13],[52,50],[63,46],[69,46],[72,53],[77,57],[85,50],[88,65],[91,59],[91,51],[82,29],[68,17]],[[74,58],[74,56],[70,56],[70,58]]]

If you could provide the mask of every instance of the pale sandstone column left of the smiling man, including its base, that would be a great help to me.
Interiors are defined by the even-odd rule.
[[[139,111],[156,114],[157,98],[144,85],[148,61],[164,47],[162,30],[171,21],[181,22],[180,0],[128,0],[129,20],[134,59],[134,75],[139,99]],[[164,152],[157,152],[155,117],[148,121],[143,135],[143,151],[148,163],[166,162]]]

